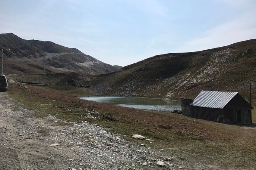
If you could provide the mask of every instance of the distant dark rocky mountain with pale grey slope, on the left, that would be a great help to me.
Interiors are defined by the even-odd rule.
[[[25,40],[13,33],[0,34],[5,73],[60,73],[66,71],[92,75],[110,73],[116,67],[103,63],[76,48],[50,41]]]

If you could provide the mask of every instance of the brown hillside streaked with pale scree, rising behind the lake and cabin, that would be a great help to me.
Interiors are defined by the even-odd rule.
[[[95,94],[167,99],[194,98],[201,90],[256,94],[256,39],[204,51],[169,53],[96,76]],[[254,95],[254,98],[256,95]]]

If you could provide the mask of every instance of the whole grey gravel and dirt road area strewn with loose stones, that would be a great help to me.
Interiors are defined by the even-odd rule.
[[[134,144],[87,122],[61,126],[65,121],[38,118],[21,106],[8,92],[0,93],[1,170],[186,169],[178,165],[181,158],[164,156],[143,140]],[[165,165],[156,165],[159,161]]]

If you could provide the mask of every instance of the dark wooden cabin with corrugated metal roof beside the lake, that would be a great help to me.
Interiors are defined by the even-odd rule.
[[[251,124],[254,109],[238,92],[201,91],[194,99],[181,99],[185,116],[221,123]]]

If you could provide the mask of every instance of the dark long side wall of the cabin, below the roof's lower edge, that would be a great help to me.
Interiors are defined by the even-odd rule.
[[[218,117],[223,114],[222,109],[214,109],[207,107],[189,106],[190,107],[190,117],[196,119],[204,119],[217,122]]]

